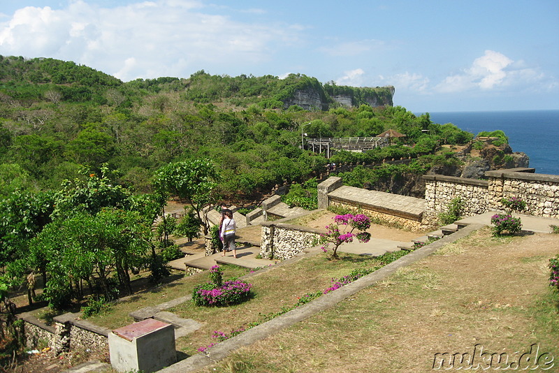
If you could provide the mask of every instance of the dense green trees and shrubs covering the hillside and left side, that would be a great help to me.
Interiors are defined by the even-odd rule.
[[[287,105],[300,89],[317,92],[327,110]],[[0,56],[3,281],[41,274],[43,300],[60,308],[84,293],[106,300],[117,288],[129,293],[130,271],[145,268],[159,279],[167,228],[153,235],[150,226],[169,194],[187,200],[193,221],[218,198],[242,204],[284,182],[296,183],[289,203],[312,208],[314,177],[328,161],[300,148],[303,128],[309,137],[406,135],[382,149],[336,153],[336,163],[412,159],[344,173],[351,185],[374,187],[456,162],[434,153],[472,134],[400,106],[365,104],[391,101],[391,89],[204,71],[122,82],[73,62]],[[335,103],[337,95],[355,106]]]

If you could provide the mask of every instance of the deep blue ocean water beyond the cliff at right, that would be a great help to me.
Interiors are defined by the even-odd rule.
[[[530,157],[536,173],[559,175],[559,110],[515,110],[490,112],[430,112],[431,121],[452,123],[477,135],[502,130],[513,152]]]

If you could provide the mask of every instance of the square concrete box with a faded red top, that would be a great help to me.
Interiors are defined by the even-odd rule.
[[[109,333],[110,364],[119,372],[157,372],[175,363],[175,328],[145,319]]]

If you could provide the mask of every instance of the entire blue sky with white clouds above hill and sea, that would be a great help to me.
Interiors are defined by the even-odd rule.
[[[557,0],[2,0],[0,54],[124,81],[301,73],[412,112],[559,109]]]

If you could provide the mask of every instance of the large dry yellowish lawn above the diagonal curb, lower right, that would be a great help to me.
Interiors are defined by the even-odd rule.
[[[495,239],[482,229],[205,372],[433,372],[435,353],[478,345],[512,363],[532,344],[558,372],[559,296],[547,268],[558,253],[558,235]]]

